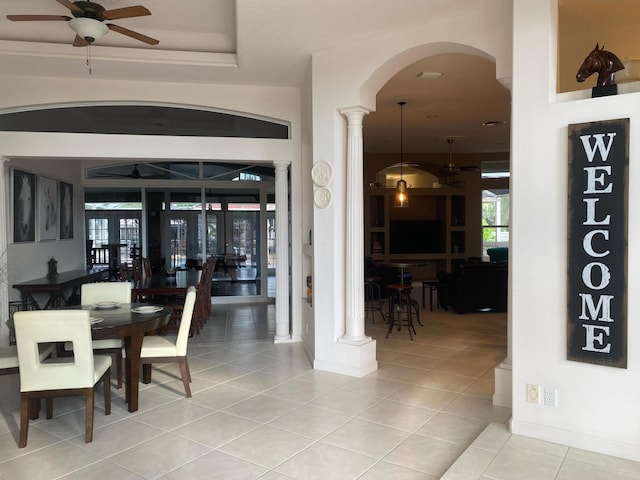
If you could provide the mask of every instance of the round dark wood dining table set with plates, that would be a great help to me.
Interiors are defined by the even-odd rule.
[[[122,338],[125,358],[125,401],[130,412],[138,410],[140,352],[145,334],[169,322],[173,309],[167,305],[115,303],[79,305],[72,308],[89,310],[91,336],[94,340]]]

